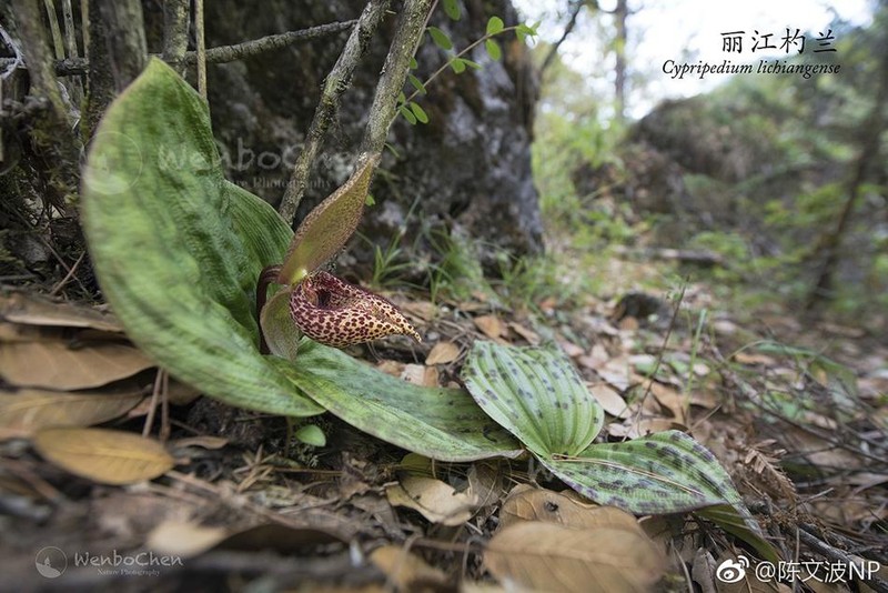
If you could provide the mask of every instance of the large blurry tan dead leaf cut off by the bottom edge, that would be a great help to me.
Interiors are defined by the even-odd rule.
[[[497,532],[484,563],[507,589],[588,593],[643,592],[663,575],[663,552],[637,524],[574,529],[519,522]]]

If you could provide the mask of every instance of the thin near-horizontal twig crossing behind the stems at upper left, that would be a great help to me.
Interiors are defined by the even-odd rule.
[[[342,31],[347,31],[354,27],[356,22],[357,19],[342,22],[331,22],[299,31],[287,31],[285,33],[268,36],[260,39],[245,41],[243,43],[238,43],[236,46],[220,46],[218,48],[210,48],[206,50],[206,63],[228,63],[236,60],[243,60],[244,58],[251,58],[268,51],[282,49],[300,41],[311,41],[313,39],[341,33]],[[163,58],[163,56],[152,56]],[[196,51],[185,52],[184,62],[186,64],[193,64],[196,63]],[[9,68],[13,63],[18,68],[24,68],[24,66],[17,62],[16,58],[0,58],[0,69]],[[89,71],[89,62],[84,58],[56,60],[53,62],[53,67],[56,69],[56,74],[59,77],[80,76],[85,74]]]

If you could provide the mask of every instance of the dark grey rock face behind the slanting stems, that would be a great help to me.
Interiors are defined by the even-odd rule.
[[[356,18],[363,6],[359,0],[274,0],[259,9],[244,2],[210,2],[208,47],[349,20]],[[400,8],[397,2],[393,7]],[[446,31],[456,48],[482,37],[493,14],[506,26],[516,22],[508,0],[468,0],[462,9],[460,21],[450,20],[438,9],[431,22]],[[395,24],[392,14],[355,71],[297,220],[341,183],[354,163]],[[276,204],[324,77],[346,36],[209,67],[214,133],[233,181]],[[467,69],[458,76],[448,69],[430,84],[428,94],[417,99],[430,115],[428,124],[411,125],[403,118],[394,123],[389,137],[394,151],[384,155],[372,190],[376,205],[369,210],[361,229],[371,241],[385,243],[405,230],[404,247],[427,251],[431,230],[451,232],[456,228],[512,253],[542,249],[529,153],[535,77],[525,48],[514,34],[504,34],[501,44],[502,61],[492,61],[480,47],[470,58],[483,69]],[[417,53],[416,76],[425,79],[444,60],[444,52],[426,37]],[[352,250],[359,261],[372,258],[372,250],[366,243],[363,247],[359,243]]]

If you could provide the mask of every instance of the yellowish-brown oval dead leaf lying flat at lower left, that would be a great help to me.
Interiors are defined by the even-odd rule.
[[[43,429],[37,451],[59,468],[101,484],[133,484],[163,475],[175,460],[162,444],[123,431]]]

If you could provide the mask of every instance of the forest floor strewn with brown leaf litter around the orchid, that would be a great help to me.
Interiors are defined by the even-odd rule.
[[[608,265],[612,278],[633,279],[656,264]],[[447,385],[458,384],[476,339],[555,342],[607,413],[599,440],[692,434],[785,559],[767,582],[754,562],[756,572],[725,583],[718,567],[755,556],[738,540],[693,514],[644,517],[668,559],[656,589],[888,591],[884,336],[862,320],[806,322],[779,306],[738,320],[705,284],[664,296],[624,283],[571,308],[544,298],[513,309],[481,290],[435,302],[386,293],[424,342],[394,338],[349,352],[404,381]],[[516,503],[537,517],[589,506],[527,460],[433,463],[330,414],[315,420],[324,446],[287,440],[284,419],[162,380],[102,308],[8,291],[0,321],[6,591],[503,591],[483,551],[505,513]],[[153,435],[176,468],[125,486],[73,476],[62,469],[70,461],[47,461],[32,445],[40,426],[60,419]],[[417,473],[428,480],[405,496],[404,476]],[[41,576],[44,556],[58,566],[61,551],[63,574]],[[149,552],[160,560],[139,564]],[[869,572],[849,574],[849,562]],[[557,559],[551,565],[556,571]],[[626,576],[642,569],[617,569],[601,590],[645,587]]]

